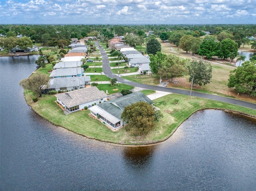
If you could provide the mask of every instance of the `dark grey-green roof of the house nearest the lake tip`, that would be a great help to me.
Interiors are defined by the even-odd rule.
[[[121,114],[124,110],[124,107],[138,101],[144,101],[152,104],[154,103],[142,92],[135,92],[113,100],[109,100],[107,102],[103,102],[101,104],[98,104],[98,106],[121,120]]]

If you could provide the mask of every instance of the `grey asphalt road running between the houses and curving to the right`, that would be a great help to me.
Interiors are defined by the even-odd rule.
[[[98,41],[96,41],[95,44],[99,47]],[[106,54],[105,50],[102,47],[99,47],[99,49],[100,49],[100,53],[102,55],[102,68],[103,68],[104,74],[111,79],[112,78],[117,79],[118,75],[114,74],[110,69],[108,55]],[[119,77],[119,82],[131,85],[134,87],[144,88],[144,89],[151,89],[151,90],[158,90],[158,91],[164,91],[164,92],[170,92],[170,93],[176,93],[176,94],[190,95],[190,91],[187,91],[187,90],[145,85],[145,84],[132,82],[132,81],[123,79],[121,77]],[[217,100],[217,101],[222,101],[222,102],[226,102],[226,103],[230,103],[230,104],[244,106],[247,108],[256,109],[256,104],[241,101],[241,100],[236,100],[236,99],[232,99],[232,98],[226,98],[226,97],[222,97],[222,96],[210,95],[210,94],[199,93],[199,92],[194,92],[194,91],[192,91],[191,96],[201,97],[201,98],[206,98],[206,99],[211,99],[211,100]]]

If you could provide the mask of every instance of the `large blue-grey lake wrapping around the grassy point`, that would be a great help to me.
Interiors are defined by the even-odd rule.
[[[256,120],[204,110],[154,146],[90,140],[27,106],[18,82],[35,59],[0,57],[1,191],[255,191]]]

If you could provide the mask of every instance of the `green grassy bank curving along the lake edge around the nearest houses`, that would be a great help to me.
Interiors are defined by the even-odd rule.
[[[52,124],[90,139],[113,144],[148,145],[163,142],[172,136],[182,122],[195,112],[204,109],[218,109],[256,117],[256,110],[254,109],[204,98],[189,100],[189,96],[170,94],[154,100],[155,106],[160,108],[164,115],[164,118],[157,123],[156,129],[146,136],[134,136],[126,132],[124,128],[117,131],[110,130],[100,120],[92,118],[88,110],[65,115],[55,103],[56,97],[54,95],[44,95],[38,98],[38,102],[33,102],[32,97],[35,94],[29,90],[25,90],[24,93],[28,105],[34,112]],[[179,99],[178,105],[173,104],[175,98]]]

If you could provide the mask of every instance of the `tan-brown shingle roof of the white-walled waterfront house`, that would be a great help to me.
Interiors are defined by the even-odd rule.
[[[68,108],[106,97],[97,87],[83,88],[55,95]]]

